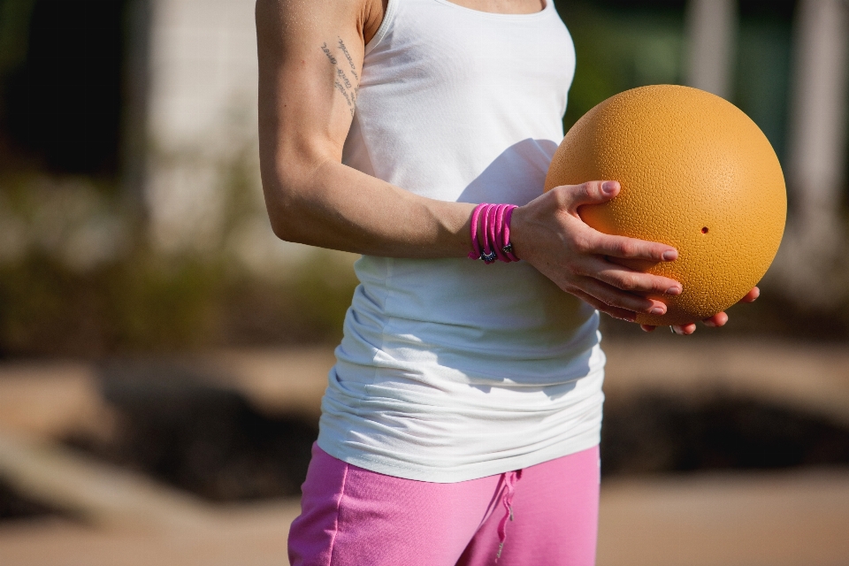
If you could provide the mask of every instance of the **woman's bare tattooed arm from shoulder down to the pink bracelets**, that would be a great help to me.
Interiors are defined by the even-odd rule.
[[[341,164],[380,0],[258,0],[260,163],[287,241],[377,256],[462,257],[473,204],[413,195]]]

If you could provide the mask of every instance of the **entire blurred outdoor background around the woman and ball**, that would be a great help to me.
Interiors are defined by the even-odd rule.
[[[555,5],[566,129],[703,88],[790,200],[722,330],[605,319],[600,566],[849,564],[849,3]],[[0,563],[284,563],[355,259],[268,224],[253,2],[0,0]]]

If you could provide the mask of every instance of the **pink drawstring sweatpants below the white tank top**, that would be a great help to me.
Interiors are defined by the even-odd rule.
[[[598,447],[436,484],[363,470],[314,446],[302,490],[302,513],[289,532],[292,566],[595,562]]]

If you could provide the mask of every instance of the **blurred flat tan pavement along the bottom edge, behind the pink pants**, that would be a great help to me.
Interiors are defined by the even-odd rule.
[[[285,562],[296,501],[164,533],[66,520],[0,527],[9,566],[233,566]],[[601,497],[599,566],[838,566],[849,556],[849,474],[625,480]]]

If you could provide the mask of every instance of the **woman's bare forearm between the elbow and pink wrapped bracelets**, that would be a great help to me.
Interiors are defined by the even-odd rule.
[[[333,159],[264,167],[274,233],[328,249],[389,257],[463,257],[474,204],[414,195]]]

